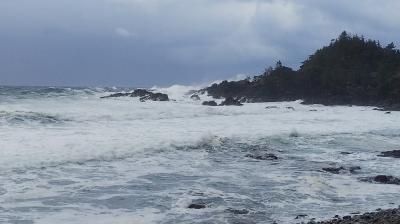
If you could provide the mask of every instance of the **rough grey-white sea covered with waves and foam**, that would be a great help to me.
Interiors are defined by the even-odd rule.
[[[400,112],[208,107],[193,87],[154,89],[174,101],[0,87],[0,223],[298,223],[399,205],[400,186],[360,179],[400,176],[377,156],[400,149]],[[278,159],[252,158],[264,154]]]

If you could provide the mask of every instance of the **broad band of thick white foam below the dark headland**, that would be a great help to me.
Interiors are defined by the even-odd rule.
[[[185,98],[192,87],[159,89]],[[2,125],[0,166],[4,169],[86,160],[110,160],[143,150],[198,144],[204,139],[361,133],[398,130],[400,113],[369,107],[324,107],[299,102],[207,107],[187,101],[144,102],[135,98],[39,98],[0,104],[0,111],[55,115],[58,125]],[[265,109],[266,106],[278,109]],[[294,107],[295,110],[288,110]],[[318,111],[310,111],[316,109]],[[210,136],[213,136],[212,138]]]

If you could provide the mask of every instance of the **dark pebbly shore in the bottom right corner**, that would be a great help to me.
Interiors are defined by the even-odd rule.
[[[399,224],[400,223],[400,210],[388,209],[377,212],[368,212],[362,215],[343,216],[340,218],[336,216],[329,221],[310,221],[308,224]]]

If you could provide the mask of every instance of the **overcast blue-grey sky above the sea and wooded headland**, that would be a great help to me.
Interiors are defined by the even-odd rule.
[[[343,30],[400,45],[399,0],[0,0],[0,85],[168,86],[297,69]]]

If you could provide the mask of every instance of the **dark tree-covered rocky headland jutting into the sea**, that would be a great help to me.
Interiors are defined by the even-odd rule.
[[[302,99],[305,104],[400,110],[400,51],[393,43],[382,47],[379,41],[343,31],[298,70],[278,61],[261,75],[223,81],[201,91],[241,102]]]

